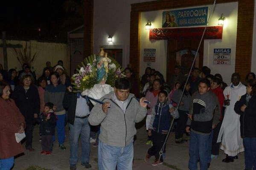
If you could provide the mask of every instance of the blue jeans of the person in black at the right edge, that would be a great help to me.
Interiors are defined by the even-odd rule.
[[[244,138],[243,143],[245,169],[256,170],[256,138]]]

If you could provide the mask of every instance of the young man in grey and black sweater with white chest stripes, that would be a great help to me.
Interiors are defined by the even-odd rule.
[[[210,81],[201,79],[198,91],[192,96],[192,103],[189,111],[189,119],[186,131],[191,131],[189,142],[189,170],[198,170],[198,158],[200,169],[208,169],[208,147],[209,136],[212,132],[212,120],[216,107],[215,96],[210,90]],[[190,130],[189,130],[190,129]]]

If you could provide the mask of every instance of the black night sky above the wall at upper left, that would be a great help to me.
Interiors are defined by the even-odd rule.
[[[9,0],[0,5],[0,31],[12,39],[66,41],[67,31],[83,24],[82,5],[82,0]]]

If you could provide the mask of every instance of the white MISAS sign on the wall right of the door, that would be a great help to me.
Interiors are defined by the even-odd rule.
[[[231,64],[231,48],[214,48],[213,64],[230,65]]]

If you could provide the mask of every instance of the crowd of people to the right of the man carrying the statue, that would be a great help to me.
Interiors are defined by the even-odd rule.
[[[255,78],[255,74],[251,72],[242,82],[240,75],[234,73],[231,76],[231,84],[227,85],[223,82],[221,74],[212,75],[207,66],[201,70],[193,68],[189,77],[181,72],[180,66],[176,66],[167,84],[162,74],[146,68],[141,79],[144,85],[142,94],[150,102],[146,116],[146,144],[151,144],[155,151],[152,152],[151,147],[145,161],[155,156],[157,162],[152,165],[163,163],[164,137],[160,136],[166,134],[166,131],[161,131],[161,125],[166,125],[165,130],[171,128],[165,123],[167,118],[161,113],[160,107],[163,102],[159,97],[165,90],[168,93],[168,102],[175,106],[179,113],[179,118],[175,119],[175,126],[172,127],[175,131],[175,142],[187,142],[183,134],[190,138],[189,170],[197,170],[198,162],[201,170],[207,170],[211,160],[219,155],[220,149],[226,153],[223,162],[233,162],[238,159],[239,153],[245,152],[245,169],[256,168],[256,128],[253,126],[256,120]],[[159,117],[156,119],[155,115]],[[154,127],[152,122],[153,125],[160,126]],[[163,151],[163,155],[160,155],[160,151]]]

